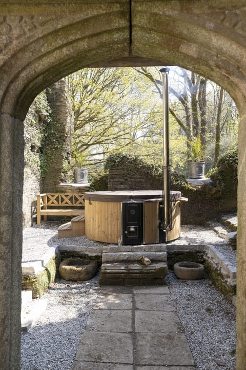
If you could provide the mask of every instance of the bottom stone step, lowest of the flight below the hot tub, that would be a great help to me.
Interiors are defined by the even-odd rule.
[[[154,262],[145,266],[141,263],[108,263],[101,265],[100,285],[163,285],[168,274],[165,262]]]

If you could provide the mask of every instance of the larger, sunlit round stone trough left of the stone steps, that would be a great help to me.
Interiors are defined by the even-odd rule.
[[[59,265],[61,279],[68,281],[85,281],[93,278],[97,263],[87,258],[65,258]]]

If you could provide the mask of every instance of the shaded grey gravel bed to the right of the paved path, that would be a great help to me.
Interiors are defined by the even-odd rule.
[[[166,280],[195,369],[235,370],[236,308],[209,279],[179,280],[170,271]]]

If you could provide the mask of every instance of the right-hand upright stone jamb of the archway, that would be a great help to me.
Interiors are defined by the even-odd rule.
[[[246,364],[246,109],[238,132],[237,370]]]

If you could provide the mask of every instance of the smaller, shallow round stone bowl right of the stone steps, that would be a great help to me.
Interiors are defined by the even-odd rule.
[[[177,262],[173,268],[177,278],[182,280],[199,280],[204,275],[204,266],[196,262]]]

